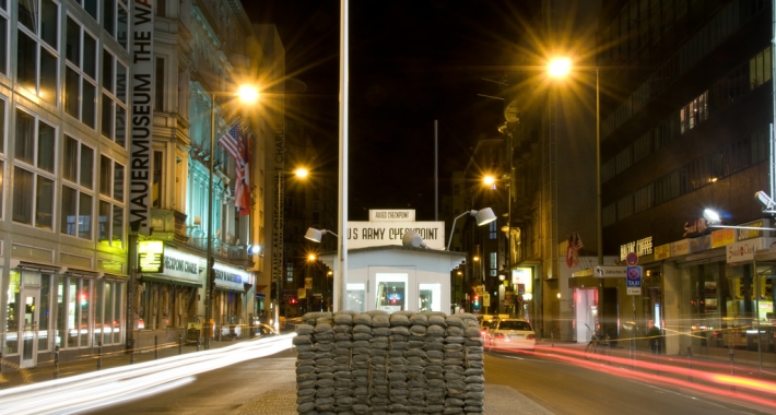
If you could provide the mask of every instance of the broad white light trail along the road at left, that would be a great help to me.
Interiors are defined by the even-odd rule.
[[[0,391],[0,414],[71,414],[177,388],[196,375],[292,347],[296,334],[127,365]]]

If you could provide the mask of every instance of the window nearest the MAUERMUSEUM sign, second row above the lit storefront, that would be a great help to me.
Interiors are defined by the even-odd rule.
[[[127,67],[103,52],[103,104],[101,132],[120,146],[127,145]]]

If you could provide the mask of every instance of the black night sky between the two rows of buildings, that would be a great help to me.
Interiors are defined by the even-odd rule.
[[[497,80],[514,61],[526,2],[350,2],[349,218],[415,209],[434,220],[434,120],[439,201],[481,133],[504,122]],[[338,154],[339,0],[243,0],[254,23],[278,26],[286,74],[307,84],[307,130]],[[512,5],[510,5],[512,4]],[[337,159],[330,167],[337,171]],[[442,209],[442,206],[439,206]]]

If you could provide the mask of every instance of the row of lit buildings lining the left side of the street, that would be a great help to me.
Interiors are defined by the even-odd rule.
[[[60,359],[74,360],[99,346],[177,341],[192,324],[201,333],[208,288],[214,333],[249,335],[257,293],[266,295],[262,257],[247,247],[264,244],[259,218],[271,129],[260,108],[222,97],[238,83],[262,81],[259,35],[237,2],[149,3],[0,3],[7,366],[50,361],[57,348]],[[133,43],[130,32],[149,20],[152,43]],[[130,82],[145,75],[133,64],[138,50],[151,68],[143,102]],[[151,109],[145,170],[130,150],[138,126],[129,120],[141,107]],[[219,142],[235,126],[250,149],[243,161]],[[243,214],[235,206],[238,162],[249,166],[243,175],[251,183]],[[140,176],[148,178],[149,216],[148,229],[137,233],[130,216],[141,201]],[[152,245],[164,257],[149,251]]]

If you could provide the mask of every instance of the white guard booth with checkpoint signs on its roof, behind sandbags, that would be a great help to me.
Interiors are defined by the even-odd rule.
[[[423,248],[402,245],[408,230]],[[369,210],[368,222],[348,223],[346,237],[344,309],[449,312],[450,271],[466,254],[445,250],[444,222],[415,222],[414,210]],[[333,270],[337,252],[320,260]]]

